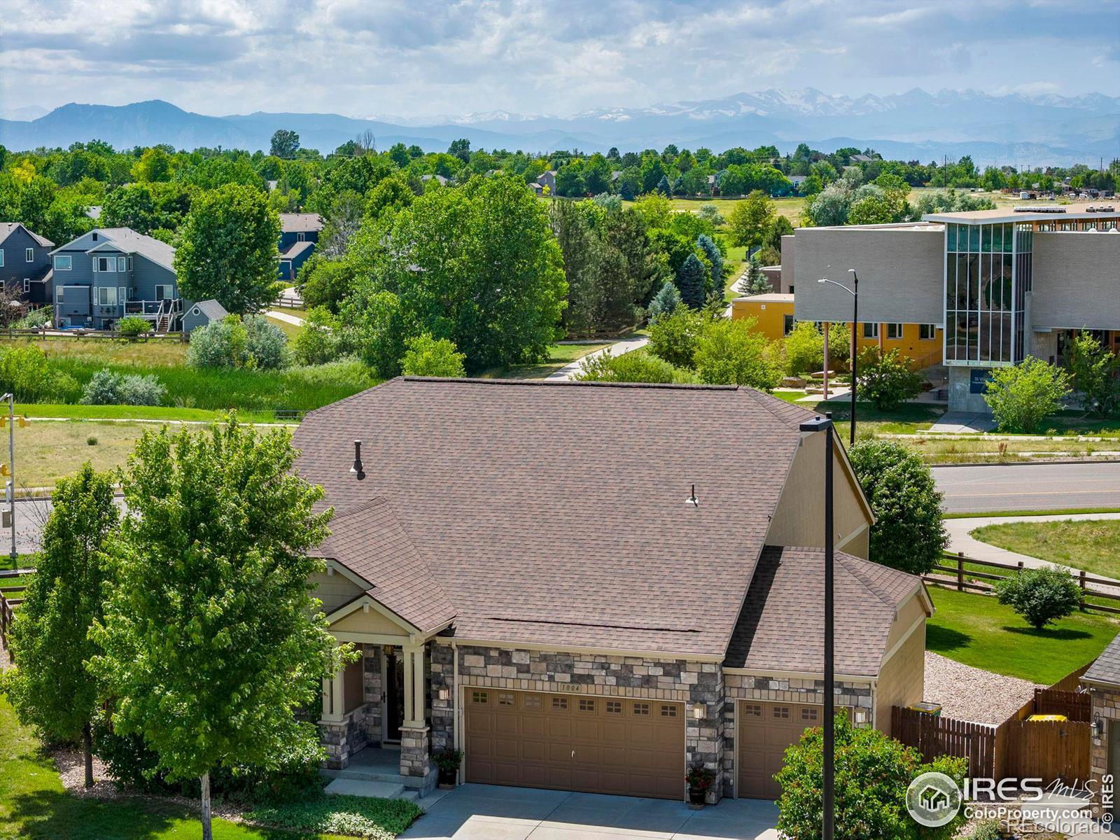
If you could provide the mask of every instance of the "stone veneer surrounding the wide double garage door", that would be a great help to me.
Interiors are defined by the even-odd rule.
[[[685,703],[685,760],[703,764],[717,773],[709,801],[722,796],[721,775],[724,737],[722,669],[715,662],[648,660],[641,656],[551,653],[501,647],[459,646],[459,682],[464,685],[512,689],[515,691],[554,691],[558,683],[579,685],[579,692],[607,697],[651,698]],[[454,743],[455,721],[454,661],[450,645],[437,644],[431,656],[432,747]],[[448,699],[439,700],[438,689],[449,689]],[[566,693],[568,691],[566,690]],[[704,717],[692,715],[697,704]],[[684,796],[681,780],[681,797]]]

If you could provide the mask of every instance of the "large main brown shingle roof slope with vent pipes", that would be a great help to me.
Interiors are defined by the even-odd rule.
[[[336,507],[389,501],[460,638],[722,656],[806,416],[746,388],[405,377],[295,446]]]

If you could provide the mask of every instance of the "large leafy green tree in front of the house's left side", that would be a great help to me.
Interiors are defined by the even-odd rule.
[[[276,763],[315,726],[296,712],[345,654],[311,597],[308,557],[327,535],[323,488],[292,472],[287,431],[255,435],[230,420],[208,430],[146,432],[122,478],[128,515],[119,573],[92,637],[90,669],[112,724],[138,735],[169,780]]]

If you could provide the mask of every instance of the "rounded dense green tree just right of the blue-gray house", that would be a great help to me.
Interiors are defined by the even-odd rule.
[[[179,290],[189,300],[214,298],[231,312],[260,309],[277,279],[280,218],[263,193],[228,184],[198,196],[175,252]]]

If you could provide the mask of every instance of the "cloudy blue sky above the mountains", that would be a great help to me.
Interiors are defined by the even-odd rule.
[[[567,115],[815,87],[1120,94],[1120,0],[3,0],[0,111]]]

